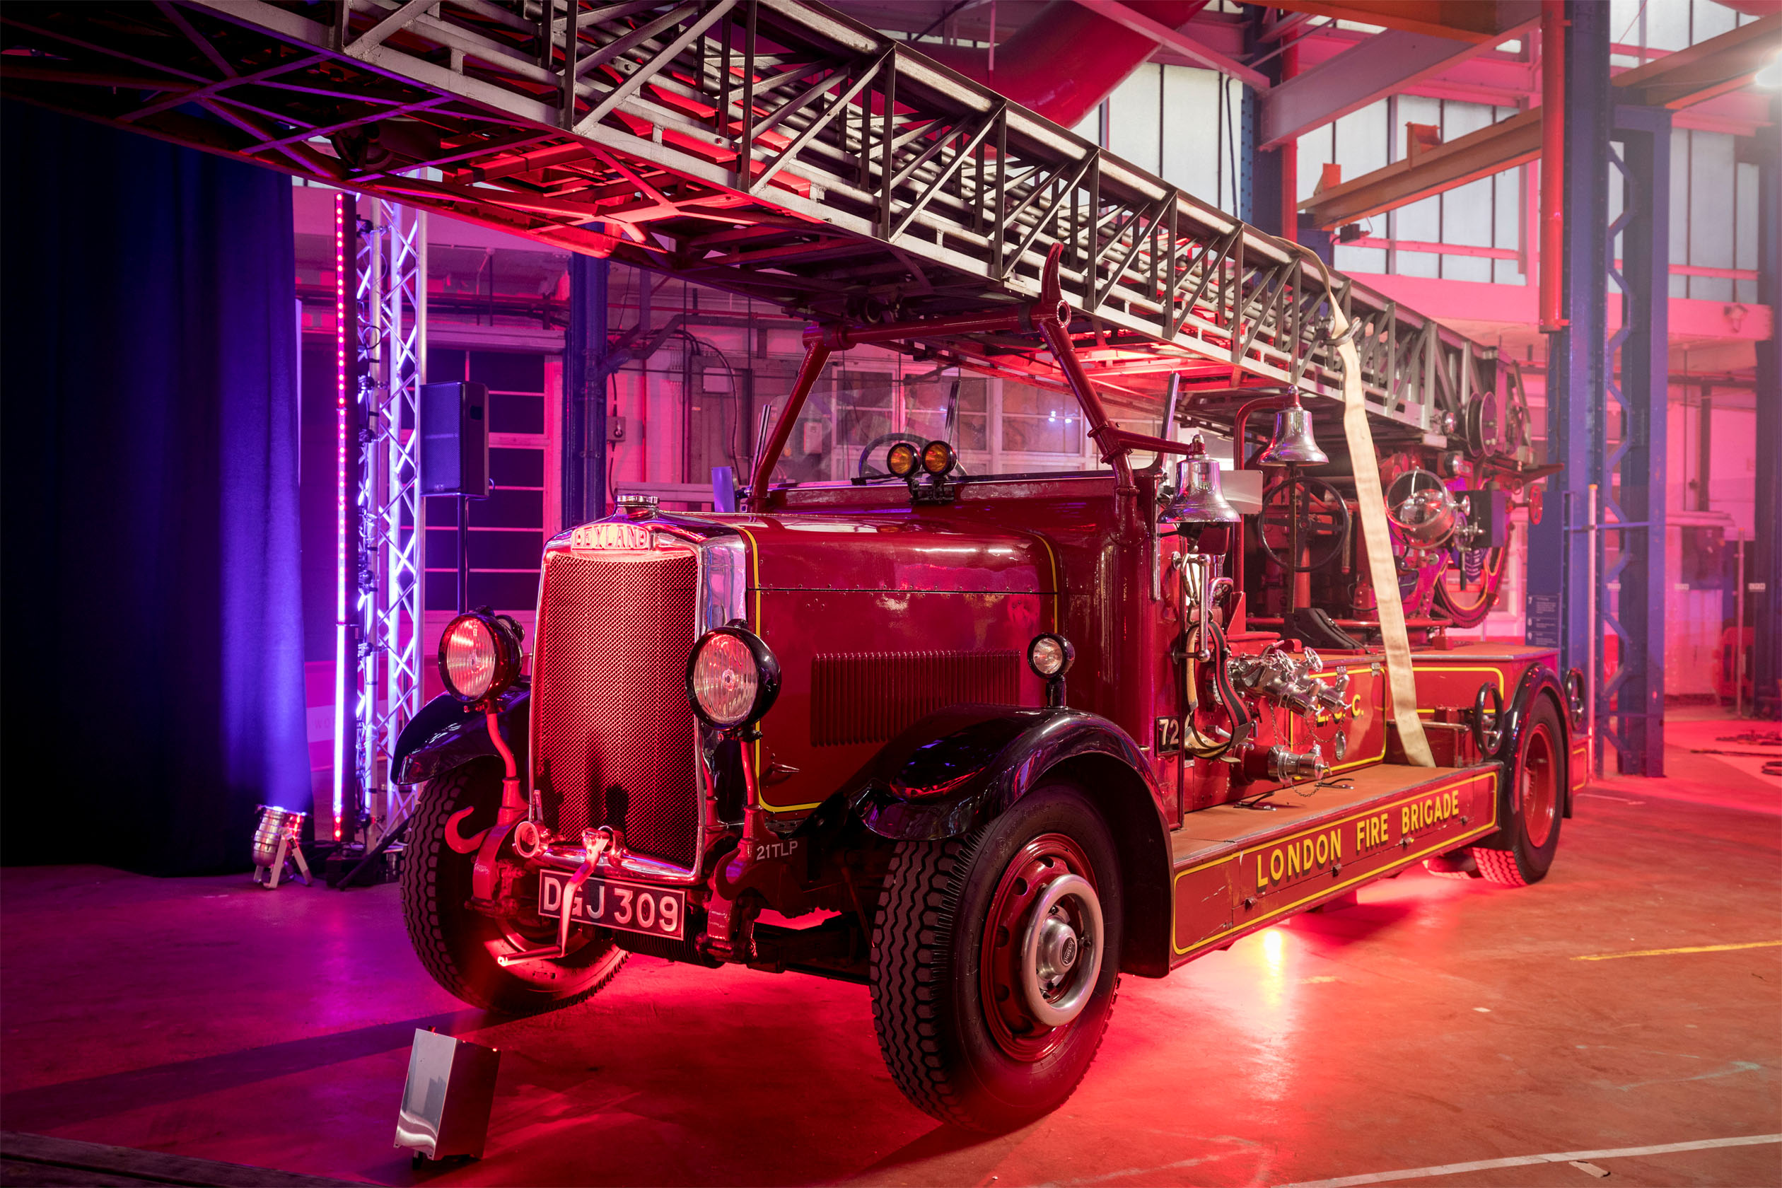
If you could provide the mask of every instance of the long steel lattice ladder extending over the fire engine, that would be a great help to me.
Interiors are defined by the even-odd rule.
[[[813,317],[1025,301],[1064,244],[1112,394],[1340,392],[1292,246],[800,0],[14,0],[5,94]],[[1336,274],[1381,429],[1442,433],[1492,351]],[[1057,379],[1032,335],[918,347]],[[1452,419],[1452,420],[1451,420]]]

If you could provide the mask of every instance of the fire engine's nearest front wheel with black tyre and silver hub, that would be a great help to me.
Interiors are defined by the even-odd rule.
[[[1119,985],[1121,882],[1101,816],[1035,789],[966,837],[903,842],[871,948],[873,1028],[903,1095],[1005,1131],[1057,1110]]]

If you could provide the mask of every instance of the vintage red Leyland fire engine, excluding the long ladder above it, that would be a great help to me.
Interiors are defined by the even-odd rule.
[[[1579,677],[1443,632],[1495,597],[1533,474],[1509,419],[1481,394],[1452,451],[1376,449],[1367,417],[1338,445],[1296,392],[1238,387],[1137,435],[1069,322],[1053,256],[1035,303],[816,326],[741,511],[627,499],[551,540],[529,671],[511,620],[453,622],[449,693],[396,755],[440,985],[552,1010],[629,953],[866,983],[909,1099],[1001,1129],[1073,1092],[1121,974],[1418,862],[1547,875]],[[962,474],[898,438],[773,483],[832,353],[943,331],[1044,338],[1107,467]],[[1183,424],[1265,476],[1247,513]]]

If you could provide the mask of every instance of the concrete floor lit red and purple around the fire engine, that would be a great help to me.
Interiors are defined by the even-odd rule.
[[[861,987],[633,958],[579,1008],[501,1022],[426,978],[396,887],[7,869],[0,1126],[383,1184],[1287,1184],[1775,1136],[1782,780],[1689,753],[1730,732],[1682,727],[1673,778],[1595,785],[1538,887],[1415,871],[1128,978],[1076,1095],[1000,1138],[898,1095]],[[412,1172],[390,1145],[417,1026],[503,1049],[481,1163]],[[1782,1184],[1775,1142],[1595,1165]]]

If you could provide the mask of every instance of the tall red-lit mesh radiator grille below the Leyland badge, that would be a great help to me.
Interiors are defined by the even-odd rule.
[[[700,800],[686,655],[690,550],[552,552],[533,657],[533,787],[560,837],[609,825],[634,853],[695,866]]]

